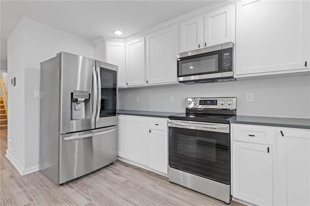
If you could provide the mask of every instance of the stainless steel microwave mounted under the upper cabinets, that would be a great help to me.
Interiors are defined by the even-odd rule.
[[[235,80],[233,43],[178,54],[177,79],[185,84]]]

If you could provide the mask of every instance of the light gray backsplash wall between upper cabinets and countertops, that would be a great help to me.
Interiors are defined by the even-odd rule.
[[[253,102],[246,102],[247,92]],[[185,112],[186,97],[237,97],[237,115],[310,118],[310,75],[121,89],[119,109]]]

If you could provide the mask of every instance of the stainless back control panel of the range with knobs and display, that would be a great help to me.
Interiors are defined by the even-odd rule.
[[[186,108],[236,109],[236,97],[186,98]]]

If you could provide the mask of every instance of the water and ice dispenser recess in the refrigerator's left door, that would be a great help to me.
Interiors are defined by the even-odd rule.
[[[71,92],[71,120],[91,118],[88,109],[90,108],[90,97],[89,91],[74,90]]]

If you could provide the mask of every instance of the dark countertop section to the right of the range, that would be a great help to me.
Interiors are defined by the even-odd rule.
[[[310,119],[308,118],[273,118],[237,115],[229,123],[310,129]]]

